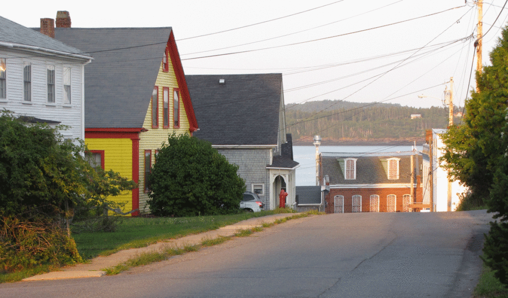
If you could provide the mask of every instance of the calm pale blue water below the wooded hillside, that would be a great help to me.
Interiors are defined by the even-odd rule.
[[[416,146],[422,151],[422,146]],[[396,152],[411,151],[412,146],[320,146],[320,152],[347,152],[347,153],[374,153],[374,152]],[[296,169],[296,186],[316,184],[316,147],[315,146],[293,146],[293,158],[300,163]]]

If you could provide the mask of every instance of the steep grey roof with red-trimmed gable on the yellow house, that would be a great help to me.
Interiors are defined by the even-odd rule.
[[[143,126],[166,46],[190,127],[198,127],[171,27],[55,28],[55,38],[94,58],[85,67],[85,128]]]

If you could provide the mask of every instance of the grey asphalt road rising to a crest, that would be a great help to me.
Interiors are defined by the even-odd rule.
[[[116,276],[0,284],[0,297],[469,297],[490,217],[293,219]]]

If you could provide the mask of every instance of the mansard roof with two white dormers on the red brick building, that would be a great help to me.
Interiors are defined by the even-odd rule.
[[[330,185],[335,184],[377,184],[377,183],[409,183],[411,175],[411,152],[385,153],[322,153],[323,175],[330,177]],[[344,179],[344,174],[337,159],[357,158],[356,179]],[[399,179],[388,179],[382,165],[382,159],[400,158]],[[422,156],[417,154],[419,164]]]

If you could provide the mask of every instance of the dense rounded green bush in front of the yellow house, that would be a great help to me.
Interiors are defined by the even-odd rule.
[[[209,142],[173,134],[158,151],[149,176],[150,212],[157,216],[238,212],[245,181],[237,170]]]

